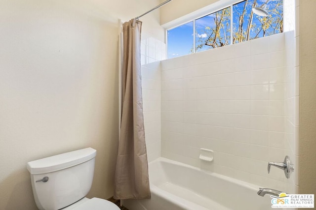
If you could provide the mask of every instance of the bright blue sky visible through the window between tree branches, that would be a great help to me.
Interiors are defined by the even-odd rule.
[[[253,3],[253,0],[248,0],[248,1],[249,2],[246,8],[246,14],[248,15],[248,17],[245,17],[244,19],[244,23],[243,23],[244,30],[246,30],[247,28],[249,14],[251,12],[252,3]],[[277,1],[278,0],[270,0],[266,5],[267,8],[273,8]],[[264,2],[266,2],[266,0],[257,0],[257,6],[261,6]],[[233,22],[234,22],[235,28],[238,27],[238,22],[239,22],[237,11],[242,12],[244,3],[245,1],[242,1],[233,6]],[[275,16],[276,15],[273,15],[273,17]],[[213,13],[196,20],[196,40],[201,39],[203,40],[203,42],[207,40],[210,34],[207,34],[205,32],[205,27],[212,28],[215,26],[214,17],[215,15]],[[257,17],[258,16],[254,14],[252,23],[257,26],[261,26],[261,23],[259,22]],[[233,30],[233,33],[234,32],[236,31]],[[269,30],[267,30],[267,32],[269,32]],[[251,30],[250,37],[253,38],[256,33],[257,31],[255,31],[255,29]],[[168,52],[167,52],[168,58],[170,59],[170,58],[175,58],[175,57],[190,54],[193,48],[193,34],[194,34],[193,21],[187,24],[181,25],[172,30],[168,30],[168,34],[167,34],[168,35]],[[221,34],[223,34],[223,32],[221,32]],[[263,32],[261,31],[260,35],[262,36],[262,34]],[[202,49],[198,49],[197,51],[211,49],[211,48],[212,47],[205,46]]]

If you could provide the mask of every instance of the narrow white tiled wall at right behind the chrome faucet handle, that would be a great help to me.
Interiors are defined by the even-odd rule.
[[[291,2],[294,4],[294,2]],[[285,33],[285,148],[294,164],[293,177],[288,181],[287,192],[298,193],[299,186],[299,1],[295,1],[295,31]]]

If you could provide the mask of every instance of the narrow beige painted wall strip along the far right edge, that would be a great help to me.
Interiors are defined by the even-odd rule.
[[[316,194],[316,1],[299,1],[299,193]]]

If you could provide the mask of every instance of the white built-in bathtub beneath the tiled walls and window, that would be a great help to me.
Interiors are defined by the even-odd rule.
[[[259,186],[172,161],[149,164],[151,199],[123,200],[129,210],[270,210]]]

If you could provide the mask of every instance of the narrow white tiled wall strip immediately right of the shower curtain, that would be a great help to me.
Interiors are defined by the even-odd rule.
[[[141,39],[143,113],[148,161],[161,155],[161,73],[160,60],[166,59],[166,44],[151,34]]]

